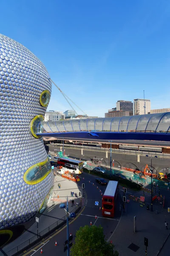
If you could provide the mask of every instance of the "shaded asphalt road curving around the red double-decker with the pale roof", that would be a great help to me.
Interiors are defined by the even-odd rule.
[[[84,179],[83,179],[84,177]],[[122,198],[119,192],[119,200],[117,201],[117,207],[114,218],[104,218],[102,217],[102,211],[99,210],[99,207],[102,207],[102,194],[105,191],[106,186],[101,186],[95,181],[96,177],[93,175],[89,175],[87,173],[83,173],[80,175],[79,185],[85,183],[85,192],[87,195],[87,203],[85,209],[79,215],[79,217],[75,220],[72,220],[69,224],[69,232],[73,235],[75,239],[76,230],[81,226],[92,224],[99,226],[101,225],[104,229],[105,239],[111,239],[113,232],[119,223],[119,219],[122,213]],[[98,186],[98,188],[97,188]],[[100,192],[101,190],[101,192]],[[99,202],[99,206],[95,206],[95,201]],[[97,216],[97,218],[96,218]],[[74,241],[73,239],[73,241]],[[50,256],[53,255],[66,255],[63,249],[63,243],[66,240],[66,227],[63,227],[61,231],[56,231],[54,236],[50,236],[48,239],[44,240],[38,247],[35,246],[31,251],[22,254],[24,256],[37,256],[40,255],[40,250],[42,248],[43,254],[48,255],[50,251]],[[57,241],[57,246],[55,246],[55,242]]]

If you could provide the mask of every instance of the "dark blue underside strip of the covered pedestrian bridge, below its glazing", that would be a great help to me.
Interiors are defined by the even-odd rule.
[[[57,137],[70,139],[94,139],[94,140],[155,140],[170,141],[170,133],[140,133],[140,132],[63,132],[63,133],[37,133],[41,137]]]

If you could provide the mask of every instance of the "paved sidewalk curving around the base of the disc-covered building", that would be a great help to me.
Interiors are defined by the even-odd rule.
[[[56,170],[55,170],[56,172]],[[61,184],[61,188],[58,188],[58,183]],[[78,186],[78,183],[75,183],[71,180],[67,180],[61,176],[56,175],[54,177],[54,189],[52,200],[48,202],[47,208],[39,217],[38,223],[38,233],[42,230],[45,230],[50,225],[54,224],[56,221],[60,220],[66,215],[64,209],[59,209],[59,204],[67,202],[67,195],[68,195],[68,212],[71,212],[72,209],[75,209],[80,205],[80,198],[79,198],[79,191],[82,192],[81,187]],[[71,192],[77,193],[78,197],[71,197]],[[59,198],[58,198],[59,196]],[[71,200],[74,200],[74,206],[72,207]],[[84,198],[82,198],[82,205],[84,204]],[[13,242],[8,244],[7,246],[3,247],[5,252],[12,250],[14,247],[22,244],[23,242],[31,239],[37,235],[37,222],[34,224],[21,236],[15,239]],[[0,255],[2,255],[0,253]]]

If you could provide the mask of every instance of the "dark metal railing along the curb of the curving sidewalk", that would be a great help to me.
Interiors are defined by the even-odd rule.
[[[72,212],[76,213],[79,211],[80,208],[81,207],[78,204],[76,207],[74,207]],[[49,227],[45,228],[40,233],[38,233],[38,237],[37,237],[37,235],[35,235],[35,236],[31,237],[30,239],[26,240],[25,242],[23,242],[22,244],[18,245],[17,247],[13,248],[12,250],[8,251],[6,254],[0,253],[0,256],[1,255],[4,255],[4,256],[16,255],[17,253],[23,251],[26,247],[35,243],[35,241],[37,241],[38,239],[40,240],[40,238],[42,238],[43,236],[47,235],[48,233],[51,233],[56,227],[60,226],[64,221],[66,221],[66,219],[67,219],[67,215],[65,215],[64,217],[62,217],[61,219],[59,219],[58,221],[56,221],[55,223],[51,224]]]

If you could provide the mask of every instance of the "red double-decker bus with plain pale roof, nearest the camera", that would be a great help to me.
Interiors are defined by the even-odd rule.
[[[116,198],[118,195],[118,181],[110,180],[102,197],[102,215],[114,217]]]

